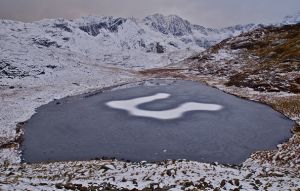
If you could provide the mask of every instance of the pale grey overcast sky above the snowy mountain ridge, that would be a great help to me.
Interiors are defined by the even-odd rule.
[[[162,13],[222,27],[278,21],[299,10],[300,0],[0,0],[0,18],[21,21],[86,15],[143,18]]]

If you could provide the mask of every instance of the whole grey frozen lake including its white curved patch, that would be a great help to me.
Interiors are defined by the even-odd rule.
[[[291,137],[294,122],[266,105],[191,81],[145,83],[38,108],[25,127],[23,160],[240,164]]]

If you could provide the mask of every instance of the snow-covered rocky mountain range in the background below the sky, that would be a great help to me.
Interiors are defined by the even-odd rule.
[[[161,14],[142,20],[98,16],[33,23],[0,20],[0,78],[36,76],[86,63],[157,67],[255,27],[211,29]]]

